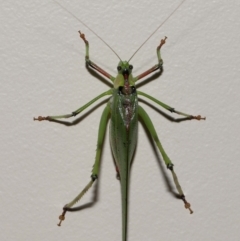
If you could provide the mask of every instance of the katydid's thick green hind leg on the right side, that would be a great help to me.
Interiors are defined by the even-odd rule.
[[[185,204],[185,208],[189,209],[190,213],[193,213],[192,209],[190,208],[190,203],[188,203],[185,199],[185,196],[183,194],[182,188],[178,182],[178,178],[176,173],[173,170],[173,163],[171,162],[170,158],[168,157],[167,153],[165,152],[165,150],[163,149],[163,146],[158,138],[157,132],[154,128],[154,125],[151,121],[151,119],[149,118],[148,114],[146,113],[146,111],[141,107],[138,106],[138,115],[139,117],[142,119],[144,125],[146,126],[147,130],[149,131],[149,133],[151,134],[153,140],[155,141],[162,157],[163,160],[167,166],[167,168],[171,171],[172,176],[173,176],[173,181],[175,183],[175,186],[178,190],[178,193],[181,197],[181,199],[183,200],[184,204]]]

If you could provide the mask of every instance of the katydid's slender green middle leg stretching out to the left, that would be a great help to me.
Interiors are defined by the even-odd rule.
[[[85,110],[87,107],[89,107],[91,104],[93,104],[94,102],[96,102],[97,100],[99,100],[100,98],[106,96],[106,95],[111,95],[112,94],[112,89],[103,92],[102,94],[98,95],[97,97],[95,97],[94,99],[90,100],[87,104],[83,105],[82,107],[78,108],[77,110],[73,111],[70,114],[65,114],[65,115],[56,115],[56,116],[38,116],[37,118],[33,118],[33,120],[38,120],[38,121],[42,121],[42,120],[57,120],[57,119],[66,119],[66,118],[70,118],[73,116],[78,115],[79,113],[81,113],[83,110]]]

